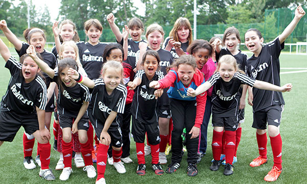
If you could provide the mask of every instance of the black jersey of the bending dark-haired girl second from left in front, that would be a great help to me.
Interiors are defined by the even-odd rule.
[[[76,118],[83,104],[83,101],[91,100],[89,88],[83,84],[77,83],[73,87],[66,87],[64,84],[58,84],[58,73],[53,77],[53,82],[56,82],[59,88],[57,98],[57,110],[65,116]]]

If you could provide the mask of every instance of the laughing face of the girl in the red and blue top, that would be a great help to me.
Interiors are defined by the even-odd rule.
[[[178,77],[185,87],[188,87],[191,83],[195,69],[188,64],[180,64],[178,66]]]

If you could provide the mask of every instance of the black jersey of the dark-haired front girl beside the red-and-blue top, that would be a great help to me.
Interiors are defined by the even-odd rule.
[[[156,89],[150,88],[151,81],[159,81],[164,77],[162,71],[156,71],[152,80],[148,80],[144,70],[138,70],[136,77],[141,78],[141,84],[135,89],[131,105],[131,114],[135,119],[145,124],[157,123],[159,119],[159,104],[154,95]],[[160,98],[159,98],[160,99]]]

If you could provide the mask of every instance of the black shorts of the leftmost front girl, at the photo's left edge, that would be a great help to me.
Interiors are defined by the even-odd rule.
[[[29,135],[39,130],[37,114],[20,115],[15,112],[0,112],[0,141],[12,142],[20,126]]]

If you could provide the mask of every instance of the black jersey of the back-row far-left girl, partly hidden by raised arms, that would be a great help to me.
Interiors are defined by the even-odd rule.
[[[19,51],[16,50],[18,56],[21,57],[24,54],[27,54],[27,49],[29,46],[30,45],[28,43],[23,42],[23,46],[21,46],[21,49]],[[40,56],[43,59],[43,61],[48,64],[50,68],[54,69],[55,66],[57,65],[57,59],[55,58],[54,54],[52,54],[52,52],[46,49],[43,49],[43,52],[40,53]],[[42,74],[45,77],[46,86],[48,88],[50,85],[50,82],[52,81],[52,78],[50,78],[45,72],[42,72]]]

